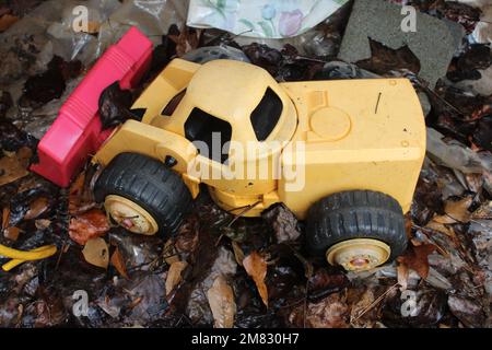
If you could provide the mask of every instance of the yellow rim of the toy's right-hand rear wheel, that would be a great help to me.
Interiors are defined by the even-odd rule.
[[[326,258],[331,265],[340,265],[348,271],[364,271],[385,264],[391,248],[384,242],[371,238],[348,240],[331,246]]]

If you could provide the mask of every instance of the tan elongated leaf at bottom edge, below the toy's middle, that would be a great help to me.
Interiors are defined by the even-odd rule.
[[[236,314],[234,291],[221,275],[213,281],[213,285],[207,292],[210,308],[213,314],[215,328],[232,328]]]

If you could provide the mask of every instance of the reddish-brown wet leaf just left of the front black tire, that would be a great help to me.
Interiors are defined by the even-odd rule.
[[[70,220],[70,238],[84,245],[89,240],[99,237],[109,231],[106,214],[93,209]]]

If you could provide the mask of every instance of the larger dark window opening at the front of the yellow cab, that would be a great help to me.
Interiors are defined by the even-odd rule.
[[[220,142],[213,142],[213,138],[218,138],[220,133]],[[185,122],[185,136],[194,141],[202,141],[208,147],[208,154],[202,154],[212,161],[224,164],[229,159],[229,147],[224,149],[224,144],[231,141],[232,127],[225,120],[219,119],[200,108],[194,108]],[[220,150],[214,149],[214,143],[220,144]],[[227,143],[229,144],[229,143]],[[222,153],[224,150],[224,153]]]

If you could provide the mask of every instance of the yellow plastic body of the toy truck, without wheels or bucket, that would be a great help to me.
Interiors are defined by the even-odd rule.
[[[250,115],[267,88],[279,96],[283,108],[273,131],[258,142]],[[163,115],[173,97],[185,90],[174,113]],[[185,122],[195,107],[230,122],[233,142],[253,147],[242,159],[242,178],[210,176],[227,174],[237,162],[234,152],[230,164],[204,158],[186,139]],[[263,69],[244,62],[215,60],[200,66],[175,59],[132,108],[147,108],[142,122],[124,124],[94,162],[105,166],[121,152],[161,161],[171,155],[178,161],[173,170],[181,174],[194,197],[204,183],[223,209],[239,213],[250,206],[244,213],[247,217],[284,202],[304,219],[320,198],[355,189],[385,192],[408,211],[425,155],[422,108],[406,79],[279,84]],[[295,152],[297,144],[301,153]],[[292,186],[283,173],[257,176],[261,168],[273,174],[278,164],[282,170],[297,167],[302,186]],[[253,177],[247,173],[251,165],[257,170]],[[196,168],[200,171],[190,171]]]

